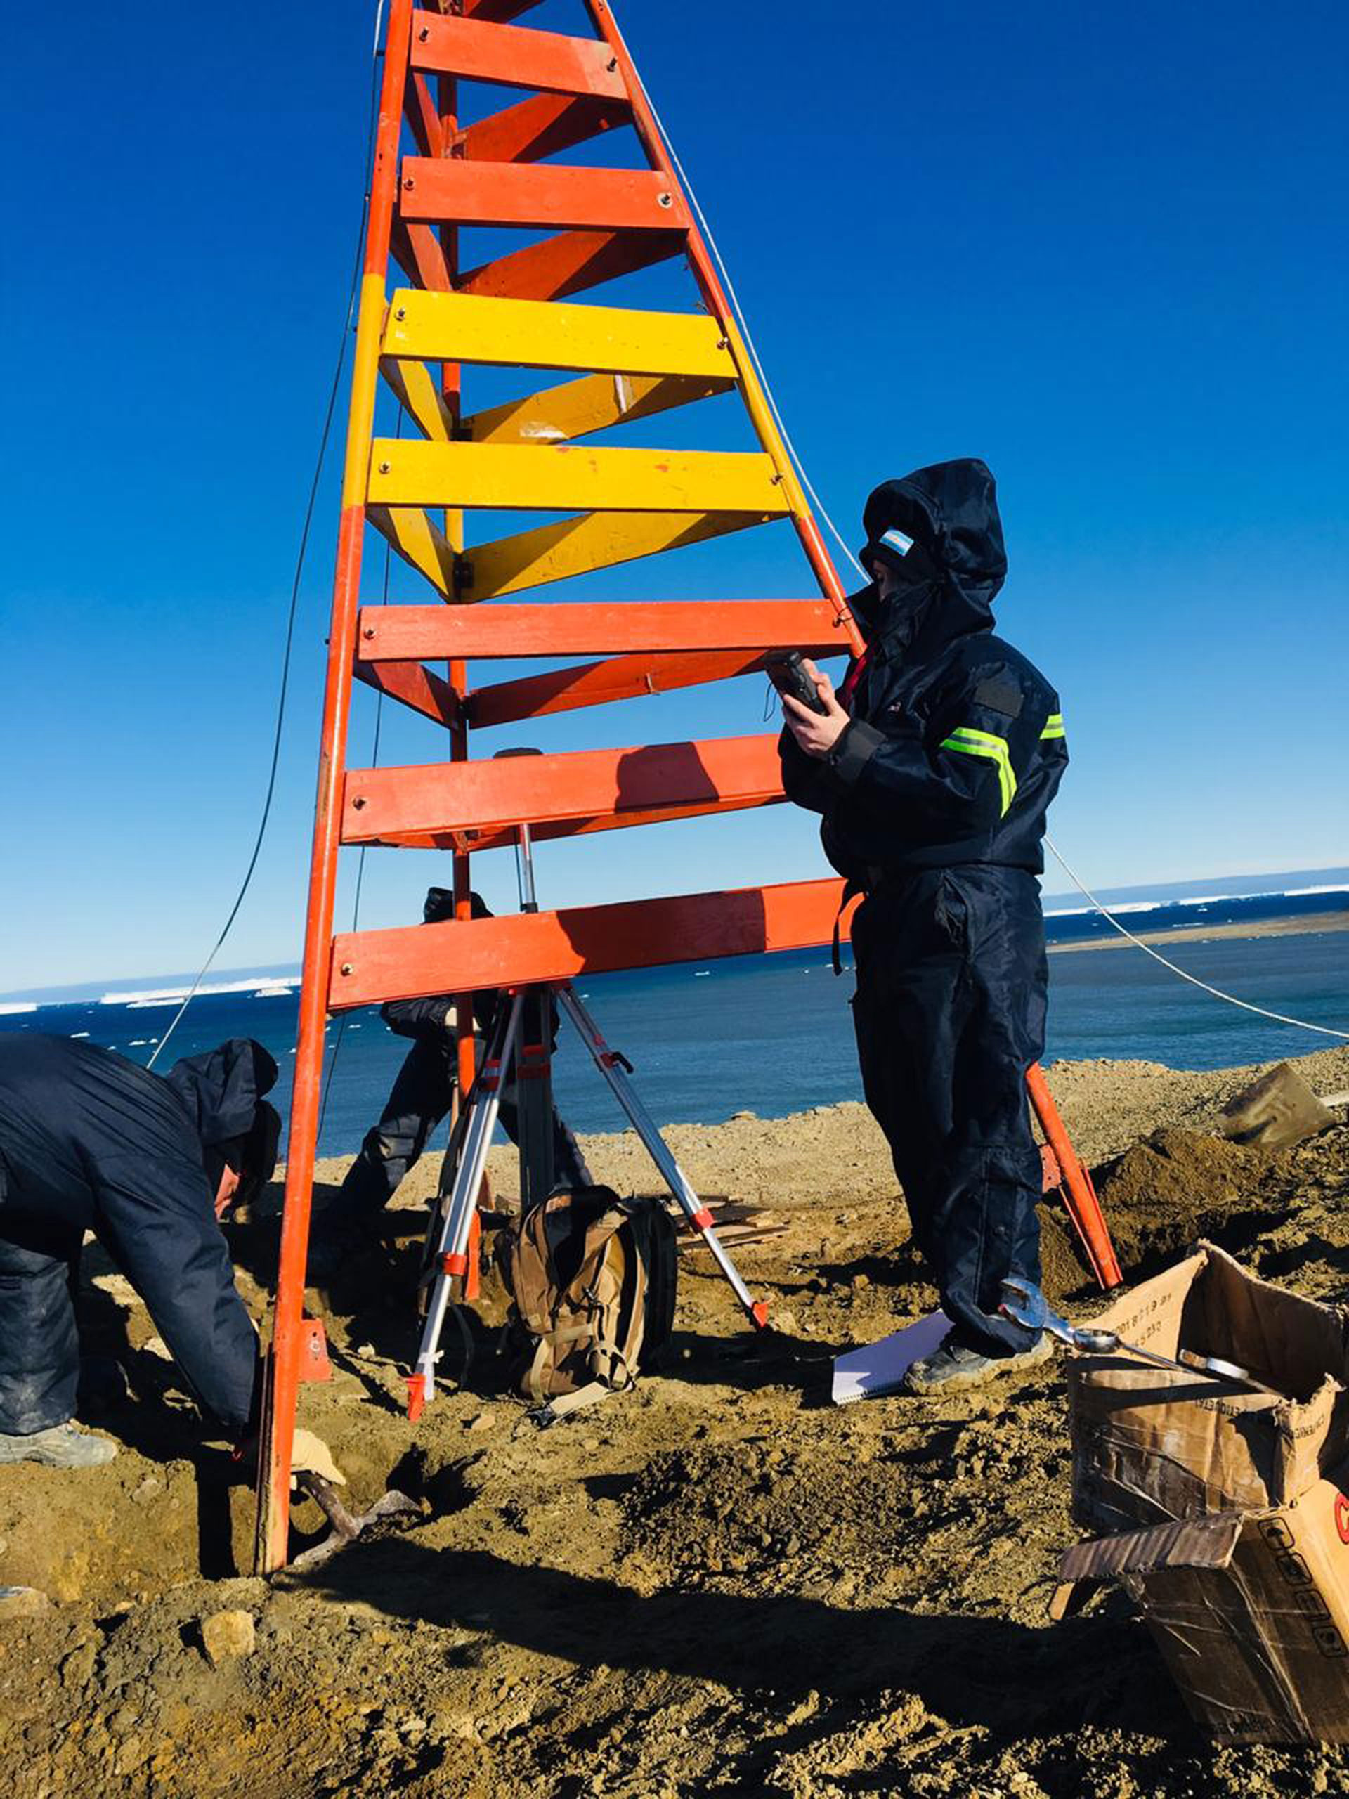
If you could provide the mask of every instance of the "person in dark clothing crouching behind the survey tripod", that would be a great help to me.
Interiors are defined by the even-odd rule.
[[[478,894],[469,896],[473,917],[491,917]],[[430,887],[423,905],[423,923],[441,925],[455,916],[455,896],[446,887]],[[500,1004],[495,991],[473,998],[473,1016],[486,1036]],[[360,1146],[356,1160],[347,1169],[342,1189],[315,1220],[309,1272],[322,1279],[335,1274],[351,1254],[371,1250],[380,1243],[380,1218],[403,1177],[417,1164],[426,1142],[448,1114],[459,1085],[459,1040],[455,1031],[455,1000],[448,995],[423,1000],[390,1000],[380,1007],[380,1016],[398,1036],[412,1038],[403,1067],[374,1124]],[[552,1016],[552,1034],[558,1034],[558,1016]],[[507,1069],[502,1090],[502,1128],[511,1142],[520,1141],[518,1105]],[[572,1132],[552,1112],[552,1168],[554,1186],[588,1187],[590,1169]]]

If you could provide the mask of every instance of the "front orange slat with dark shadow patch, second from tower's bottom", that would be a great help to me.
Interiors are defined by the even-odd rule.
[[[522,820],[559,824],[718,801],[759,806],[781,792],[775,732],[507,761],[349,768],[342,840],[378,844],[410,833],[496,831]]]

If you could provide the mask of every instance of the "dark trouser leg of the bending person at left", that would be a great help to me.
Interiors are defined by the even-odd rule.
[[[81,1232],[0,1205],[0,1434],[76,1416]]]

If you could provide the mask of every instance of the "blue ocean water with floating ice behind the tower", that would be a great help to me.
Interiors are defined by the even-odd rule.
[[[1349,891],[1225,898],[1130,908],[1131,930],[1257,923],[1349,907]],[[1113,939],[1095,914],[1050,912],[1050,944]],[[1189,973],[1255,1006],[1311,1024],[1349,1029],[1349,932],[1180,941],[1169,952]],[[1175,1069],[1216,1069],[1306,1054],[1333,1045],[1237,1011],[1160,968],[1142,950],[1083,948],[1050,955],[1047,1061],[1088,1056],[1140,1058]],[[210,1049],[227,1036],[255,1036],[281,1065],[273,1096],[290,1101],[297,991],[293,975],[218,977],[198,995],[165,1052]],[[140,988],[99,998],[0,1009],[0,1031],[86,1036],[146,1061],[167,1029],[182,986]],[[782,1117],[815,1105],[860,1099],[849,995],[853,973],[835,979],[827,950],[730,957],[705,966],[633,970],[577,982],[612,1047],[633,1061],[635,1081],[660,1124],[714,1124],[732,1112]],[[329,1078],[320,1153],[358,1148],[406,1052],[378,1009],[349,1013],[327,1031]],[[336,1049],[336,1054],[333,1051]],[[599,1072],[563,1024],[556,1061],[558,1103],[579,1132],[617,1130],[622,1117]]]

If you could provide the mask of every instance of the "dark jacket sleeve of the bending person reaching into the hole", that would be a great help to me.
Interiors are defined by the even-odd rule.
[[[241,1436],[254,1414],[257,1331],[200,1160],[103,1157],[92,1186],[99,1238],[146,1301],[192,1398]]]

